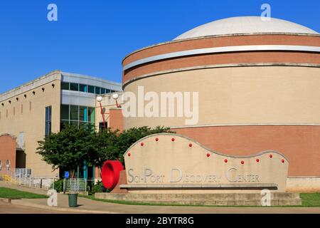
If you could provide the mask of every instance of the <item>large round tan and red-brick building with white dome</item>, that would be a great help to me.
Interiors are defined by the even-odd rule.
[[[319,190],[319,52],[316,31],[259,16],[213,21],[139,49],[123,59],[124,93],[198,92],[198,123],[127,117],[124,129],[165,125],[228,155],[281,152],[287,187]]]

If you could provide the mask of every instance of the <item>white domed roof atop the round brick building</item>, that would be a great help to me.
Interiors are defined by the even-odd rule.
[[[236,33],[309,33],[319,34],[305,26],[290,21],[272,18],[270,21],[262,21],[260,16],[238,16],[228,19],[213,21],[193,28],[186,33],[174,38],[195,38],[201,36],[215,36]]]

